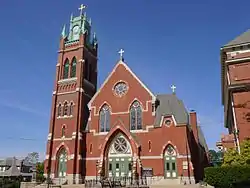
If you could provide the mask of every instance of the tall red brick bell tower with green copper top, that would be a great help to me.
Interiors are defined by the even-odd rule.
[[[44,165],[52,181],[68,184],[85,174],[87,104],[97,86],[97,37],[84,9],[81,5],[79,16],[71,14],[69,29],[64,25],[61,32]]]

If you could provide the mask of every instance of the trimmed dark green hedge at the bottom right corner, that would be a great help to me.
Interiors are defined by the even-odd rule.
[[[249,178],[250,167],[247,165],[205,168],[205,182],[216,188],[232,188]]]

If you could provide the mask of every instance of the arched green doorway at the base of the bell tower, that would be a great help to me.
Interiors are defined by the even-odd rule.
[[[67,152],[63,148],[58,153],[57,177],[65,178],[67,173]]]

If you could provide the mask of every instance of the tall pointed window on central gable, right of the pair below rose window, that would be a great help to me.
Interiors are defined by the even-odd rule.
[[[130,129],[142,129],[142,109],[138,101],[133,102],[130,108]]]

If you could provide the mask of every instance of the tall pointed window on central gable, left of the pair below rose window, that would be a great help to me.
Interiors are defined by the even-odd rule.
[[[110,130],[110,109],[108,105],[104,105],[100,111],[100,132],[108,132]]]

